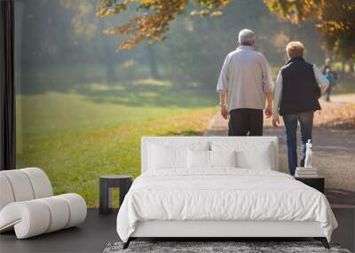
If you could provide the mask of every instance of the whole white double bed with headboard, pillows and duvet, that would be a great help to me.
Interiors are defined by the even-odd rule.
[[[153,153],[156,146],[163,149]],[[209,154],[211,163],[213,155],[236,151],[239,164],[185,168],[171,161],[165,168],[183,160],[164,151],[171,146]],[[328,247],[337,223],[327,198],[278,172],[277,138],[152,137],[142,138],[141,148],[142,175],[117,216],[125,248],[138,237],[314,237]]]

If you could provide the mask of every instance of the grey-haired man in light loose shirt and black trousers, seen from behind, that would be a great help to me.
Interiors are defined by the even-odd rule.
[[[227,119],[229,136],[263,135],[263,110],[272,115],[272,77],[261,52],[254,49],[255,33],[240,31],[238,47],[225,58],[217,83],[221,115]],[[266,100],[266,107],[265,107]]]

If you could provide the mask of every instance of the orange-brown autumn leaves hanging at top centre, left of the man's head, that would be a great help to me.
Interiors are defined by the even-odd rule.
[[[131,49],[143,41],[154,43],[164,40],[170,21],[184,13],[187,4],[199,7],[191,12],[192,15],[216,16],[222,13],[219,8],[229,3],[230,0],[99,0],[97,15],[107,18],[134,8],[140,15],[130,18],[126,24],[104,31],[106,35],[130,36],[119,44],[119,49]]]

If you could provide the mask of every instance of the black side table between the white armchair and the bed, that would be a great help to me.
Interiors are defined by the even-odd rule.
[[[120,205],[130,190],[133,178],[123,175],[107,175],[99,177],[99,213],[109,214],[112,211],[112,188],[120,188]]]

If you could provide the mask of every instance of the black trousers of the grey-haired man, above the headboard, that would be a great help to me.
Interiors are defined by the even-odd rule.
[[[261,109],[234,109],[229,112],[229,136],[262,136],[263,110]]]

